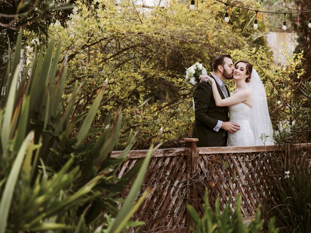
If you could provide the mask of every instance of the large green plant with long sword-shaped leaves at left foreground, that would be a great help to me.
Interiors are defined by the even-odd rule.
[[[105,86],[87,112],[74,114],[80,86],[75,83],[69,101],[62,99],[68,68],[65,58],[58,71],[61,44],[53,51],[52,39],[45,52],[43,48],[34,50],[32,65],[22,68],[21,37],[19,32],[13,59],[0,82],[0,233],[93,232],[97,227],[107,233],[121,232],[138,208],[139,201],[135,205],[134,201],[153,147],[143,163],[117,179],[116,171],[131,149],[133,134],[120,157],[110,158],[120,131],[121,111],[112,127],[92,129]],[[11,50],[9,53],[11,57]],[[78,123],[81,127],[71,135]],[[94,133],[101,134],[86,142]],[[118,211],[120,192],[136,174]],[[104,214],[113,219],[108,226]]]

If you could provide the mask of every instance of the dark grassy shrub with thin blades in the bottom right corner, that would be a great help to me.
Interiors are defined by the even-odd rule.
[[[310,153],[310,151],[309,151]],[[269,195],[264,200],[264,217],[275,216],[282,233],[311,232],[311,168],[306,158],[288,171],[267,179]]]

